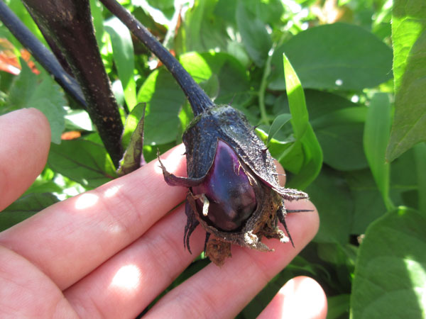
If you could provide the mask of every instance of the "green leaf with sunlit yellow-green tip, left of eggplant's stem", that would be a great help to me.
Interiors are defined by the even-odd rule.
[[[163,68],[152,72],[138,92],[138,103],[146,103],[145,144],[175,141],[185,95],[172,75]]]

